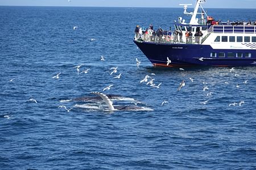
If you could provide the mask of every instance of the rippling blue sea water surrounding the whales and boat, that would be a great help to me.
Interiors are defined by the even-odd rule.
[[[168,29],[182,12],[0,7],[0,169],[256,169],[255,67],[155,68],[133,43],[135,25]],[[256,16],[255,9],[207,12],[224,21]],[[77,65],[89,73],[77,75]],[[110,75],[111,67],[118,72]],[[160,88],[140,83],[146,75]],[[105,94],[148,109],[61,102],[110,84]]]

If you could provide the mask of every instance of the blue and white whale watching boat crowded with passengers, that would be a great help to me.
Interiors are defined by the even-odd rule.
[[[218,22],[197,0],[189,23],[181,17],[175,30],[135,29],[134,42],[154,66],[256,66],[256,22]]]

